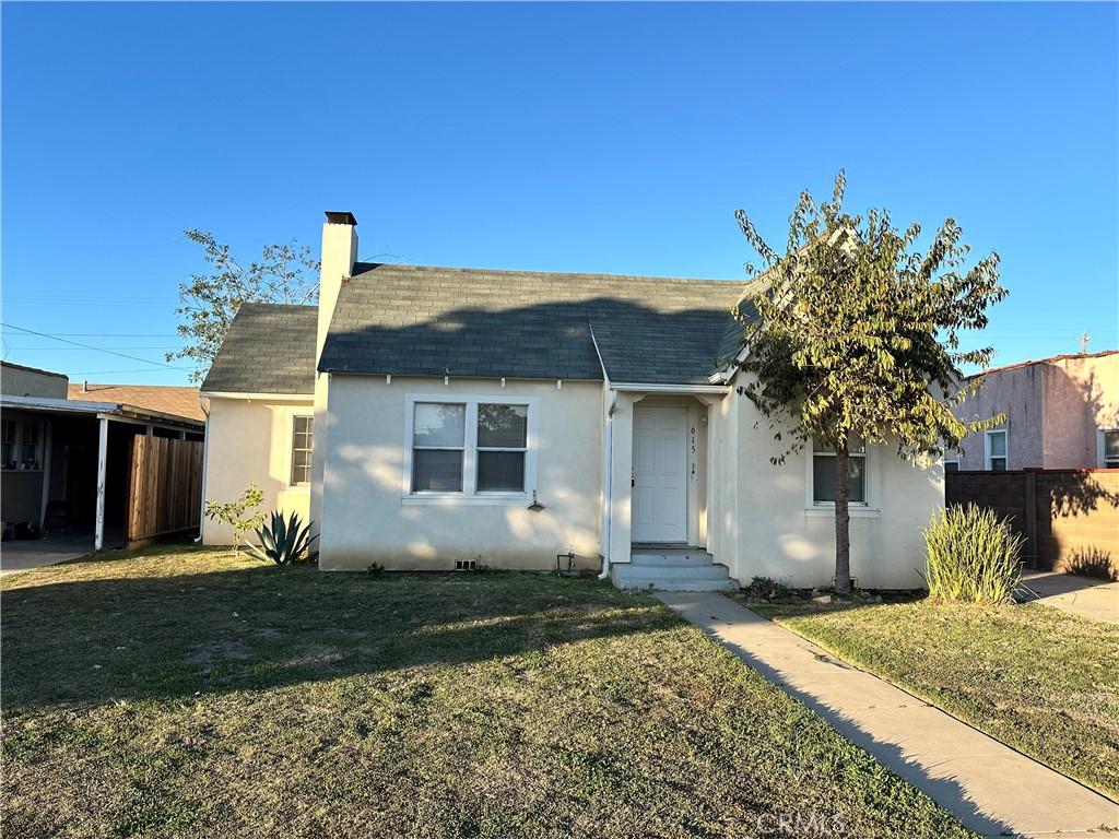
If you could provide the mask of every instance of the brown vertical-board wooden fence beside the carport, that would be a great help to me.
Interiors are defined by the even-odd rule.
[[[139,435],[132,442],[128,540],[197,529],[201,524],[203,444]]]

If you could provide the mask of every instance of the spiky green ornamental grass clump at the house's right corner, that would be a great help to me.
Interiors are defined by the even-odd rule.
[[[922,530],[929,596],[940,601],[1008,603],[1018,585],[1025,541],[1007,519],[974,503],[939,510]]]

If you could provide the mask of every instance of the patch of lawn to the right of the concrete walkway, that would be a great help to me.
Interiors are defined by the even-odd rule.
[[[1034,604],[755,609],[1119,799],[1119,626]]]

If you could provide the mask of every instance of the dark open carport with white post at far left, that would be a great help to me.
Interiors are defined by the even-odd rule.
[[[149,502],[130,486],[135,483],[135,453],[167,455],[169,446],[178,445],[160,445],[159,440],[198,441],[194,445],[200,451],[205,431],[199,420],[114,402],[4,395],[0,407],[3,520],[35,522],[44,532],[92,528],[94,550],[105,546],[106,532],[135,538],[129,532],[129,522],[137,520],[133,508]],[[149,439],[151,445],[137,437]],[[160,494],[173,492],[180,507],[184,493],[178,487],[191,475],[168,466],[187,460],[145,459],[145,468],[159,471]]]

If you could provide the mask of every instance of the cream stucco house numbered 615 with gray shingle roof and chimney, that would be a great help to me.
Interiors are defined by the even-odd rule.
[[[834,456],[773,465],[781,445],[716,364],[756,283],[361,263],[354,217],[327,218],[319,307],[242,307],[203,384],[207,499],[255,481],[311,516],[327,571],[573,554],[627,585],[647,562],[677,585],[711,562],[724,581],[831,579]],[[940,465],[884,445],[855,470],[854,575],[919,585]],[[204,540],[232,534],[208,521]]]

